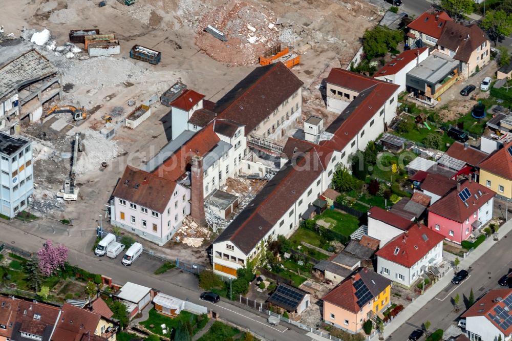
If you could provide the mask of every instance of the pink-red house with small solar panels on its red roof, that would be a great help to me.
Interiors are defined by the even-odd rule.
[[[429,207],[429,228],[460,244],[493,218],[495,194],[478,182],[460,182]]]

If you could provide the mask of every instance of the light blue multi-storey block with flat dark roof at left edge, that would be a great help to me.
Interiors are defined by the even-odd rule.
[[[24,210],[34,188],[32,141],[0,132],[2,214],[13,218]]]

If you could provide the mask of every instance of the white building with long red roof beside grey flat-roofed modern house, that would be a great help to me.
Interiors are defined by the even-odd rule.
[[[373,78],[398,84],[398,92],[406,91],[406,74],[429,56],[429,48],[406,50],[391,59]]]

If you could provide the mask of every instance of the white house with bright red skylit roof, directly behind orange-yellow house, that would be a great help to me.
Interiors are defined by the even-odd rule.
[[[414,224],[377,251],[377,271],[409,287],[442,262],[443,240],[440,233]]]

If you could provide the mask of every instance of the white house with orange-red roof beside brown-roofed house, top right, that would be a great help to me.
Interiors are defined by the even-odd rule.
[[[436,46],[437,40],[441,37],[446,22],[453,22],[453,19],[446,12],[427,13],[424,12],[407,25],[408,44],[411,48],[421,48],[424,45]]]

